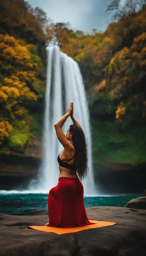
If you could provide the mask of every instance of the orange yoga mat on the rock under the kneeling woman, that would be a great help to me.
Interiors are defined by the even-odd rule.
[[[95,229],[95,228],[102,228],[102,227],[107,227],[107,226],[112,226],[115,225],[115,222],[107,222],[107,221],[91,221],[92,225],[86,225],[86,226],[81,226],[81,227],[75,227],[75,228],[55,228],[55,227],[47,227],[47,226],[28,226],[26,229],[31,228],[31,229],[36,229],[40,231],[45,231],[45,232],[52,232],[56,234],[66,234],[66,233],[73,233],[73,232],[78,232],[82,231],[85,229]]]

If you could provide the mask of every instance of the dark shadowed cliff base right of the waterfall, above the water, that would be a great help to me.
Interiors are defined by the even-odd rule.
[[[93,168],[100,193],[143,193],[146,188],[146,163],[135,166],[104,163],[94,164]]]

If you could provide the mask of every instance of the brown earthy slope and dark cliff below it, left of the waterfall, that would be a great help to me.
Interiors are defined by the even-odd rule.
[[[24,189],[39,171],[43,155],[42,138],[30,138],[26,154],[8,150],[0,155],[0,189]]]

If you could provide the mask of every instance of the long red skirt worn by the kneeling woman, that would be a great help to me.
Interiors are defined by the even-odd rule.
[[[83,185],[76,178],[59,178],[48,195],[50,227],[72,228],[91,225],[83,201]]]

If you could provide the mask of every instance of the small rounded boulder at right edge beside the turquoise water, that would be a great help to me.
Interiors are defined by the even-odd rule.
[[[146,210],[146,196],[131,199],[124,207]]]

